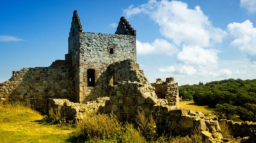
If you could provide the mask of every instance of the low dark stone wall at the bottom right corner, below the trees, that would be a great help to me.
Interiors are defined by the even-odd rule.
[[[221,119],[219,122],[225,122],[232,129],[234,137],[246,137],[250,136],[251,138],[256,138],[256,123],[254,122],[235,122],[233,120]]]

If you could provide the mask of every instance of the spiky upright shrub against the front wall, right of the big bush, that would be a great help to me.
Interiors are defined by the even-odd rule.
[[[139,130],[147,141],[155,140],[155,137],[157,136],[156,123],[154,122],[152,115],[150,115],[149,118],[146,118],[144,111],[139,112],[136,123],[139,125]]]

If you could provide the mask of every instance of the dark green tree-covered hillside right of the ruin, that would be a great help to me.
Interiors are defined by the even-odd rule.
[[[197,105],[215,107],[219,118],[256,120],[256,79],[228,79],[206,84],[179,86],[183,99],[193,99]]]

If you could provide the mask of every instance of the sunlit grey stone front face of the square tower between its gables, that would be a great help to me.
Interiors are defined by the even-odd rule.
[[[108,96],[107,86],[113,85],[116,80],[114,77],[118,77],[114,76],[115,69],[109,65],[127,59],[136,62],[136,37],[86,32],[80,36],[80,40],[80,102],[89,101],[92,95],[98,94],[95,93],[96,88],[105,92],[99,93],[99,96]],[[110,48],[113,48],[113,54],[110,53]],[[95,70],[95,86],[98,85],[96,88],[88,87],[88,69]]]

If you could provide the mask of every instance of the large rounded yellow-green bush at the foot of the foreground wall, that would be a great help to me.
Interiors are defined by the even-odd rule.
[[[89,140],[117,140],[122,138],[124,127],[112,113],[85,115],[77,129],[73,131],[70,141],[89,141]]]

